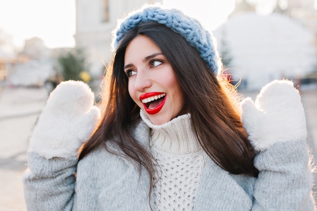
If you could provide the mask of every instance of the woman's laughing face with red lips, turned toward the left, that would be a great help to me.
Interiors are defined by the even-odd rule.
[[[127,46],[124,71],[129,94],[153,124],[175,118],[183,106],[179,83],[171,64],[147,36],[135,37]]]

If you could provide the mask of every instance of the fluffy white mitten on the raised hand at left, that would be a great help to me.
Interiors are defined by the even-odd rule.
[[[30,138],[30,152],[50,159],[77,156],[100,118],[94,94],[82,81],[65,81],[51,93]]]

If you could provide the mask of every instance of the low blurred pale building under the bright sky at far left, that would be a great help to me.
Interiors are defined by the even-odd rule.
[[[0,69],[5,64],[6,86],[43,87],[56,74],[56,59],[71,48],[49,49],[38,37],[25,40],[23,49],[11,59],[1,59]]]

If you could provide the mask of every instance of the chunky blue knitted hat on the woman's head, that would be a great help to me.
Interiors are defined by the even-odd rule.
[[[112,48],[116,49],[118,47],[120,40],[130,29],[147,21],[164,24],[181,34],[200,53],[201,58],[207,63],[212,72],[218,74],[220,69],[219,57],[211,34],[203,28],[199,21],[176,9],[146,7],[142,11],[128,16],[122,22],[119,22],[114,30]]]

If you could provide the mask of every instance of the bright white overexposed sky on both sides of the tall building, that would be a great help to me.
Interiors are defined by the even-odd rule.
[[[274,1],[265,0],[266,3]],[[164,0],[163,4],[182,10],[214,30],[226,21],[235,0],[194,2],[194,7],[192,1],[185,0]],[[18,48],[32,37],[42,38],[48,48],[75,46],[75,0],[0,0],[0,9],[0,30],[11,35]]]

